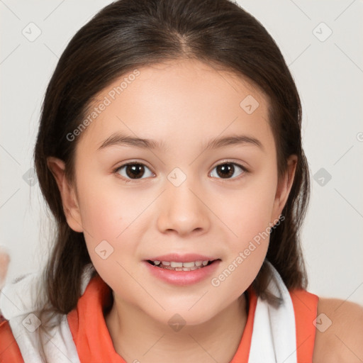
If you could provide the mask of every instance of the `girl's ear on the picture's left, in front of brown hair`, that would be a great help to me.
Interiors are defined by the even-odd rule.
[[[47,165],[53,177],[55,177],[55,181],[57,181],[58,189],[60,189],[63,211],[65,212],[69,227],[75,232],[83,232],[77,194],[74,186],[69,183],[65,175],[65,162],[57,159],[57,157],[48,157]]]

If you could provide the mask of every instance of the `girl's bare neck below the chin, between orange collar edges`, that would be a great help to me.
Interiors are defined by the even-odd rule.
[[[116,352],[126,362],[219,362],[228,363],[238,349],[247,321],[242,295],[223,311],[199,325],[174,331],[149,315],[114,301],[105,316]],[[216,344],[218,342],[218,344]]]

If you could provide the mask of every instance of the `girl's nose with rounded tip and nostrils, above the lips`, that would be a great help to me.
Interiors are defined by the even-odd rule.
[[[203,201],[203,194],[195,184],[184,181],[180,186],[167,185],[160,199],[157,228],[161,233],[186,236],[203,234],[211,227],[210,211]],[[194,190],[196,189],[196,190]]]

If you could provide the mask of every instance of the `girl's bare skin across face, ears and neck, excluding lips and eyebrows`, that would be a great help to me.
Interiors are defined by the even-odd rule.
[[[212,276],[217,277],[256,235],[276,223],[289,196],[296,156],[278,179],[268,100],[245,79],[196,60],[139,70],[140,76],[74,141],[74,184],[65,178],[62,160],[50,157],[48,166],[69,226],[84,233],[94,267],[113,290],[105,320],[116,352],[126,362],[211,362],[213,357],[227,363],[245,328],[241,294],[257,276],[269,241],[218,287],[211,278],[189,286],[167,284],[151,276],[143,260],[170,252],[208,255],[221,259]],[[101,91],[95,104],[119,84]],[[248,95],[259,102],[250,115],[240,107]],[[98,150],[116,132],[160,141],[163,148]],[[248,135],[262,147],[203,147],[226,135]],[[113,172],[126,162],[145,165],[142,179],[130,179],[126,168]],[[216,166],[225,162],[247,172],[236,166],[232,179],[220,177]],[[186,176],[180,186],[167,179],[175,167]],[[106,259],[95,251],[103,240],[113,247]],[[178,332],[168,324],[175,313],[186,321]]]

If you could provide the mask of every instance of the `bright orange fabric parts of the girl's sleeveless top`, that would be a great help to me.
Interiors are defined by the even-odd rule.
[[[245,330],[230,363],[248,363],[257,306],[257,296],[252,286],[247,289],[247,296],[249,308]],[[318,296],[297,289],[290,291],[290,296],[296,322],[297,362],[312,362],[315,340],[315,326],[312,322],[316,318]],[[77,307],[67,315],[69,328],[82,363],[126,363],[116,353],[104,320],[104,310],[109,308],[111,298],[111,289],[100,277],[94,277],[79,298]],[[0,323],[0,362],[23,363],[21,352],[6,320]]]

